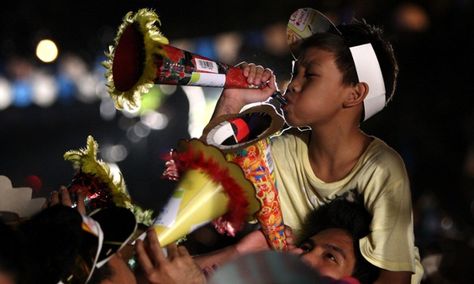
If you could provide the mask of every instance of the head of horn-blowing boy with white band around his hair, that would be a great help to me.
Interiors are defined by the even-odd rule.
[[[395,91],[398,65],[392,46],[381,29],[365,22],[316,33],[297,50],[284,107],[292,126],[358,125],[380,111]]]

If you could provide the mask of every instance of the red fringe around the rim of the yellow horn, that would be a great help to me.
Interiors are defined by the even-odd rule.
[[[180,176],[186,170],[196,169],[207,174],[216,183],[222,184],[229,196],[229,208],[222,217],[230,222],[235,230],[242,229],[249,202],[243,188],[229,175],[229,170],[226,167],[220,167],[219,163],[212,158],[205,159],[203,152],[194,153],[191,147],[186,152],[173,151],[171,155]]]

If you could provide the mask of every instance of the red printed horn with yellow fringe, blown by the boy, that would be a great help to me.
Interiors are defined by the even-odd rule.
[[[171,45],[158,30],[156,13],[129,12],[106,54],[107,85],[117,108],[136,107],[154,84],[256,88],[240,68]]]

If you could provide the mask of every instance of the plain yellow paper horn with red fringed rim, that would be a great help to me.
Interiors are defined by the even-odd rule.
[[[184,174],[153,224],[161,246],[223,215],[237,227],[254,218],[260,207],[252,183],[219,149],[197,139],[181,141],[174,158]]]

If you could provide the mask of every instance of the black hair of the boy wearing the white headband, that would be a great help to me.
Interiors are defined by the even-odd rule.
[[[337,26],[337,29],[339,31],[334,29],[327,33],[316,33],[305,39],[301,43],[300,52],[314,47],[332,52],[336,65],[343,73],[343,83],[356,84],[359,79],[349,47],[371,43],[382,70],[385,99],[386,102],[390,101],[395,93],[398,63],[392,45],[383,36],[383,30],[355,19],[350,24]]]

